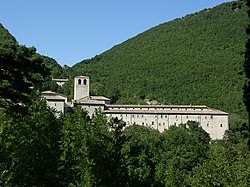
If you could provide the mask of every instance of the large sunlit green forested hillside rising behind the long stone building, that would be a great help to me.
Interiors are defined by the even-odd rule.
[[[84,60],[71,75],[116,103],[203,104],[245,115],[242,104],[246,6],[225,3],[156,26]],[[116,94],[117,95],[117,94]]]

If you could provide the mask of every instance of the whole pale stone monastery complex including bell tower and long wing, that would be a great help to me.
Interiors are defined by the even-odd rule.
[[[61,95],[60,95],[61,96]],[[45,97],[48,105],[62,111],[62,104]],[[66,102],[66,100],[64,100]],[[103,96],[89,95],[89,77],[77,76],[74,81],[74,100],[72,106],[80,106],[90,116],[101,110],[108,117],[117,117],[128,125],[138,124],[152,127],[163,132],[171,125],[188,121],[197,121],[210,134],[212,139],[222,139],[229,129],[228,113],[207,106],[193,105],[110,105],[110,100]],[[67,105],[66,105],[67,106]]]

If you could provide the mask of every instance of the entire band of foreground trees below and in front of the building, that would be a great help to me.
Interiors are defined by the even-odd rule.
[[[35,99],[0,115],[1,186],[249,186],[244,143],[210,144],[196,122],[159,133],[79,108],[56,118]]]

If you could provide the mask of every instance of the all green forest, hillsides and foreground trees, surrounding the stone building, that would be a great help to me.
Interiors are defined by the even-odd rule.
[[[187,15],[72,68],[19,45],[0,24],[0,186],[250,186],[247,7],[250,1],[236,1]],[[100,111],[55,117],[41,91],[70,98],[72,77],[83,74],[93,80],[92,94],[114,103],[149,99],[226,110],[230,130],[211,140],[193,121],[159,133]],[[60,88],[52,77],[70,80]]]

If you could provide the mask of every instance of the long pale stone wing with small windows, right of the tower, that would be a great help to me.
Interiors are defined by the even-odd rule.
[[[138,124],[163,132],[171,125],[199,122],[212,139],[222,139],[228,126],[228,113],[207,106],[191,105],[107,105],[108,117],[122,119],[128,125]]]

